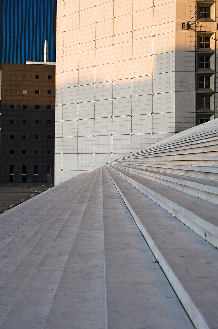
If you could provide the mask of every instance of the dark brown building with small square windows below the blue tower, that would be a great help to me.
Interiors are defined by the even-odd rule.
[[[55,65],[2,64],[0,182],[54,177]]]

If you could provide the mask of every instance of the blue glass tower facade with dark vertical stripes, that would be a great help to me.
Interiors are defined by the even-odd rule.
[[[56,0],[0,0],[0,65],[43,62],[45,40],[55,62]]]

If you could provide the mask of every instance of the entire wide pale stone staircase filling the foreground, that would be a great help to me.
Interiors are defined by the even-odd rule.
[[[0,215],[0,328],[218,328],[217,120]]]

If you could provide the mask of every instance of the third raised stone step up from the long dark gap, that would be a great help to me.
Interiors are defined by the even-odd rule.
[[[184,175],[166,173],[157,170],[137,168],[131,165],[127,166],[114,164],[114,166],[148,178],[154,182],[158,182],[191,195],[195,195],[206,201],[218,204],[218,181],[216,180],[187,177]]]

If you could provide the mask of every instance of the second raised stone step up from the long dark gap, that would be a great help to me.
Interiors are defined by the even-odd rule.
[[[113,165],[110,167],[203,239],[215,247],[218,246],[218,206],[216,204],[118,169]]]

